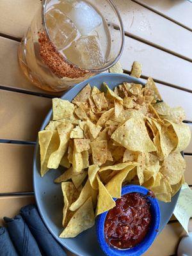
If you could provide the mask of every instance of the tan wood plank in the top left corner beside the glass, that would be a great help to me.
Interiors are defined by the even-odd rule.
[[[40,0],[1,0],[0,32],[21,38],[39,6]]]

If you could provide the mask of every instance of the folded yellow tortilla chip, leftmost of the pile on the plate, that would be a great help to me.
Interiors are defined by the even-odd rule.
[[[49,170],[47,166],[49,157],[60,145],[60,138],[57,131],[40,131],[38,132],[38,142],[40,145],[40,173],[43,177]]]

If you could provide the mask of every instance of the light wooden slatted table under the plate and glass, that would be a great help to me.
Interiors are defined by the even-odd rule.
[[[192,4],[184,0],[114,0],[125,26],[120,62],[129,74],[134,60],[143,76],[154,77],[170,106],[183,106],[192,131]],[[33,151],[38,129],[57,93],[33,86],[20,71],[17,48],[40,0],[0,1],[0,223],[22,205],[35,202],[32,184]],[[185,150],[186,182],[192,186],[192,141]],[[192,230],[192,220],[189,223]],[[184,234],[174,217],[146,256],[177,252]],[[72,255],[68,253],[68,255]]]

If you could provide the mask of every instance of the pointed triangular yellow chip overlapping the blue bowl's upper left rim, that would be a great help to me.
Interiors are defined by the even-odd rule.
[[[104,186],[104,184],[102,184],[102,182],[100,181],[98,175],[97,175],[97,181],[98,181],[98,184],[99,184],[99,195],[98,195],[98,198],[97,198],[97,209],[96,209],[95,216],[101,214],[102,212],[106,212],[109,209],[115,207],[115,201],[113,200],[113,198],[109,194],[109,192],[106,189],[106,187]]]

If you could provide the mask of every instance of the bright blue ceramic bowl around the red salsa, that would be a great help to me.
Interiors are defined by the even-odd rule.
[[[143,195],[147,195],[148,189],[143,188],[141,186],[137,186],[137,185],[128,185],[122,188],[122,196],[132,192],[138,192]],[[156,198],[152,198],[151,196],[147,196],[147,198],[151,204],[152,222],[148,230],[147,236],[145,236],[145,238],[143,239],[143,241],[141,241],[141,243],[137,244],[133,248],[121,250],[121,249],[116,249],[109,246],[104,236],[104,223],[105,223],[106,215],[108,214],[108,211],[100,214],[100,216],[97,218],[97,239],[99,241],[100,247],[102,248],[103,252],[106,255],[108,256],[125,256],[125,255],[139,256],[139,255],[142,255],[144,252],[146,252],[147,249],[151,246],[151,244],[153,243],[154,239],[157,236],[157,232],[159,229],[160,210],[159,210],[159,204]]]

